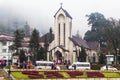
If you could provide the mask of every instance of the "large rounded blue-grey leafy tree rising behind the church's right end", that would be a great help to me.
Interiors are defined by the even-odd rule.
[[[86,41],[99,41],[102,37],[103,28],[108,24],[108,21],[104,17],[103,14],[95,12],[90,15],[86,15],[88,17],[88,25],[91,26],[91,30],[88,30],[85,33],[84,39]]]

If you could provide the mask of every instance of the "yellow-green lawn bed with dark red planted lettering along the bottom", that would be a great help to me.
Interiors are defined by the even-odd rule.
[[[119,72],[99,71],[12,71],[16,79],[120,78]]]

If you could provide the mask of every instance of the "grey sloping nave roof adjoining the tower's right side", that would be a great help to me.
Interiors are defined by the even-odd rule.
[[[76,37],[76,36],[72,36],[72,38],[70,38],[70,40],[78,46],[83,46],[85,48],[89,48],[89,46],[86,44],[86,41],[83,40],[82,38]]]

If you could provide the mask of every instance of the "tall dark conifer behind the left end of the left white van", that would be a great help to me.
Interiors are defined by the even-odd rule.
[[[33,57],[34,57],[33,62],[35,63],[35,61],[37,59],[37,52],[40,48],[40,46],[39,46],[39,32],[36,29],[34,29],[32,32],[29,47],[33,53]]]

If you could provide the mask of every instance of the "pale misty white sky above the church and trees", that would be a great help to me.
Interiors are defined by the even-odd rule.
[[[120,0],[0,0],[0,9],[23,18],[31,27],[36,27],[41,33],[54,27],[54,14],[63,3],[73,17],[72,32],[80,35],[90,29],[86,14],[102,13],[106,18],[120,18]]]

